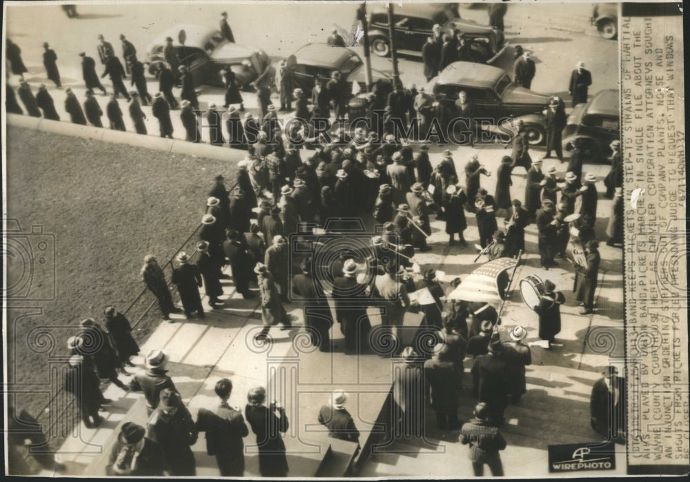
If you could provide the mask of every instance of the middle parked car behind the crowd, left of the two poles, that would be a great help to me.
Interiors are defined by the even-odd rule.
[[[300,48],[288,63],[294,64],[295,85],[304,92],[311,92],[314,79],[331,79],[331,74],[337,70],[347,81],[352,92],[353,83],[359,84],[359,89],[366,90],[366,74],[364,62],[354,50],[346,47],[332,47],[326,43],[308,43]],[[391,76],[378,70],[371,70],[371,81],[391,79]]]

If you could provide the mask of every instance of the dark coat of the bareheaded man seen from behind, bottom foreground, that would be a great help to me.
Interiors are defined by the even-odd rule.
[[[206,432],[206,452],[215,455],[221,476],[242,477],[244,475],[244,441],[249,428],[242,412],[237,412],[228,403],[221,403],[212,412],[200,408],[195,424],[197,432]]]

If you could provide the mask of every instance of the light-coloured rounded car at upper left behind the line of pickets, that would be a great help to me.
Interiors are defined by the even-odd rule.
[[[157,66],[161,63],[170,67],[163,55],[166,37],[172,38],[179,65],[187,66],[195,86],[223,86],[221,70],[229,65],[235,72],[241,88],[246,88],[258,77],[258,72],[263,72],[268,65],[264,60],[268,59],[265,53],[228,42],[220,30],[196,25],[179,25],[159,34],[146,49],[144,63],[148,65],[148,72],[152,75],[155,75]]]

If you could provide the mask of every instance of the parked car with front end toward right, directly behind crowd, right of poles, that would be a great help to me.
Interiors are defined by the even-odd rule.
[[[454,62],[429,81],[426,92],[438,102],[454,104],[460,91],[475,106],[475,118],[490,119],[493,125],[506,125],[518,118],[525,123],[529,143],[538,145],[546,138],[544,114],[551,96],[517,87],[508,74],[481,63]]]

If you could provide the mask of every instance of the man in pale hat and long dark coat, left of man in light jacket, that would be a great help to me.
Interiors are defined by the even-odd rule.
[[[333,281],[335,317],[345,335],[345,354],[357,354],[366,350],[371,330],[366,314],[366,285],[357,281],[357,264],[354,259],[344,261],[342,274]]]

